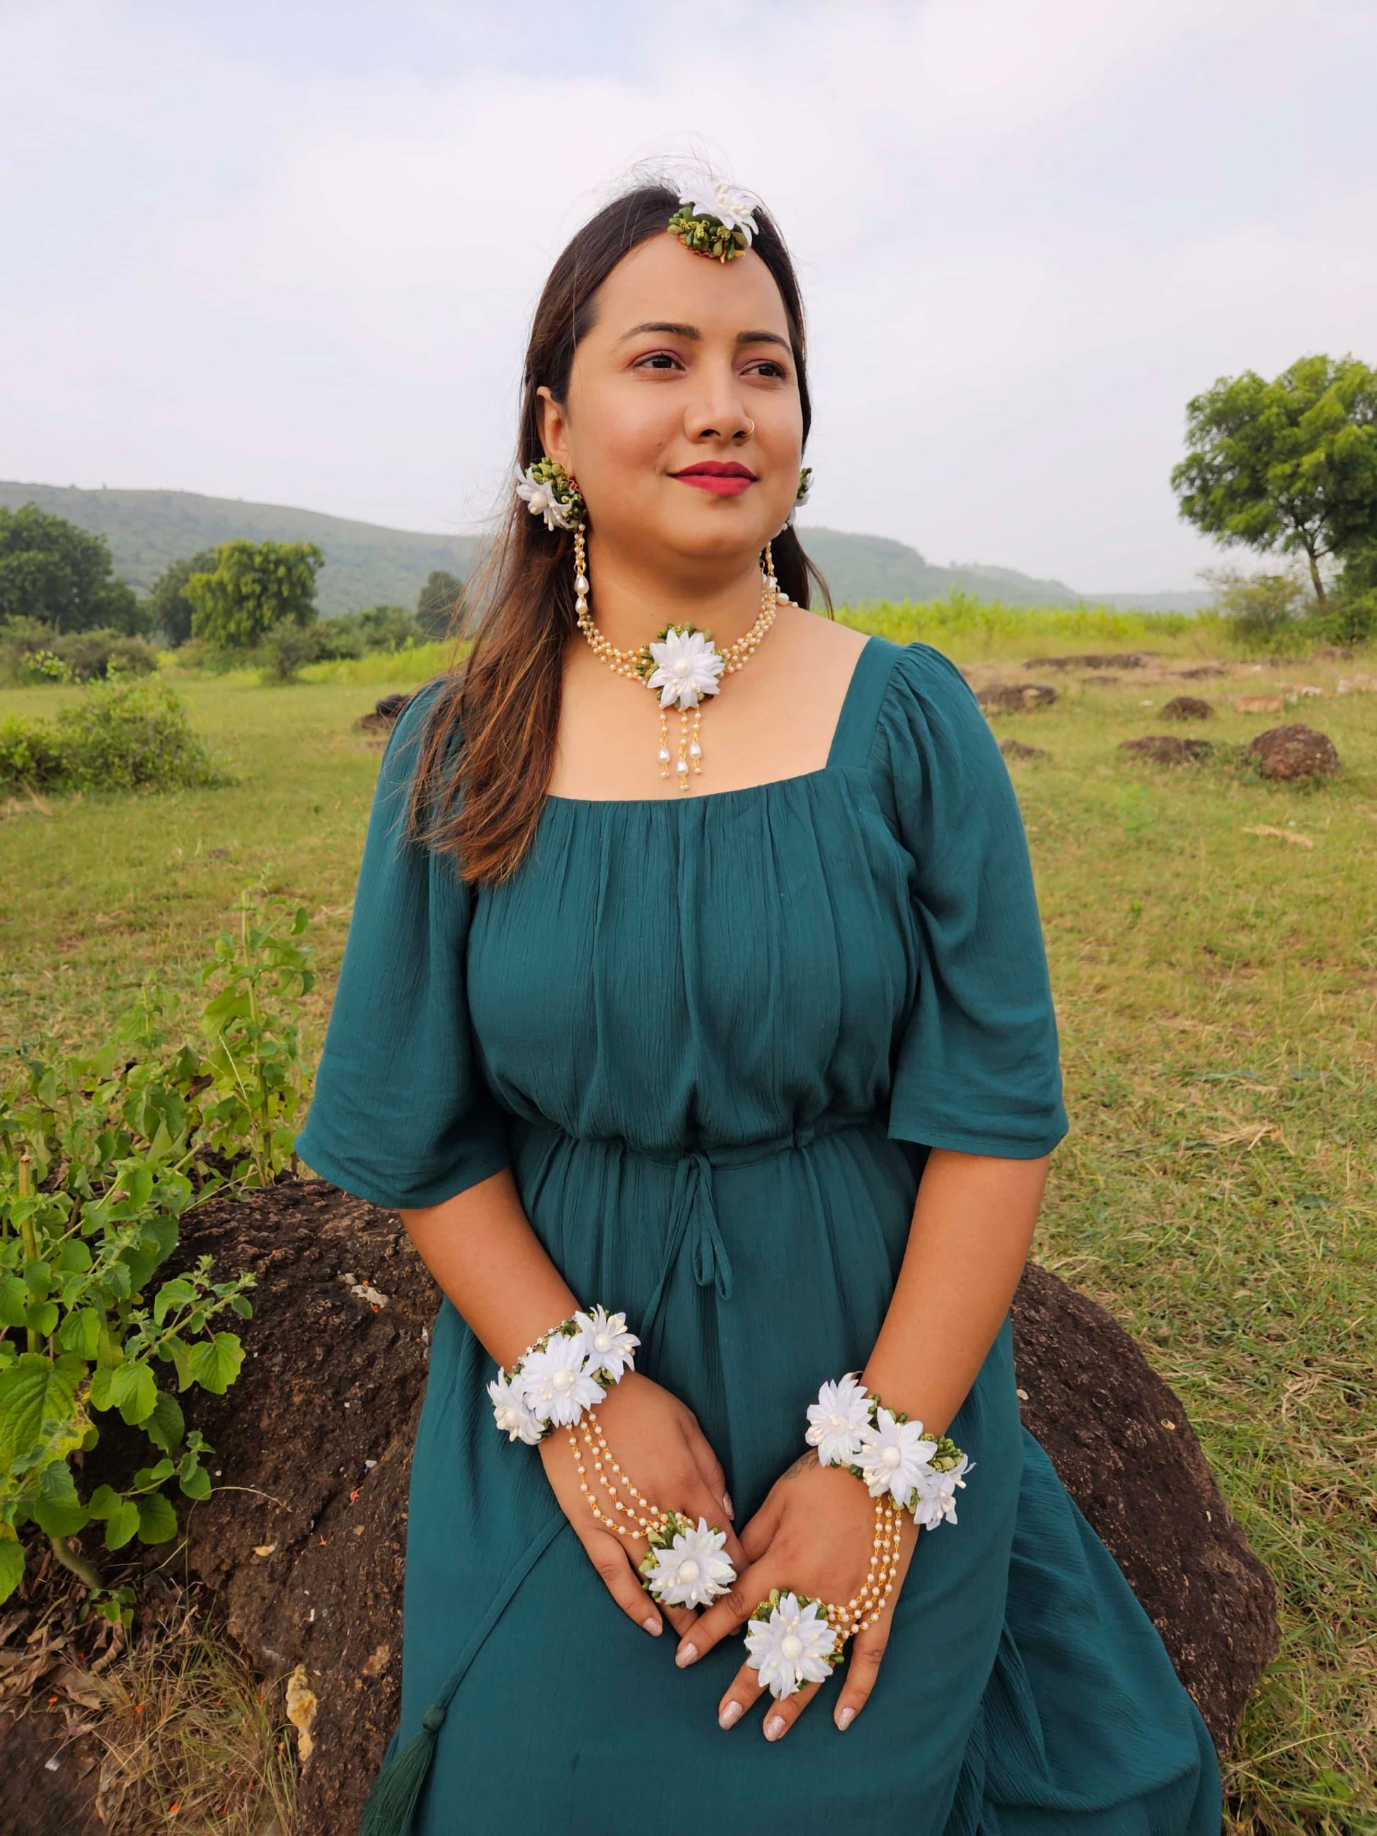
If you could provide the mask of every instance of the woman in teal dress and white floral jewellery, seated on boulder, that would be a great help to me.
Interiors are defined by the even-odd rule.
[[[806,610],[808,422],[764,209],[610,204],[384,758],[299,1142],[446,1296],[369,1832],[1219,1830],[1019,1423],[1065,1116],[1017,804],[944,657]]]

